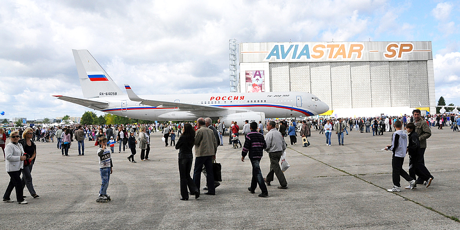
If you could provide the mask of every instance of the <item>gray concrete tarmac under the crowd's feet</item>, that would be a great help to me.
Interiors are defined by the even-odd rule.
[[[1,203],[2,229],[460,229],[458,175],[460,133],[432,129],[425,162],[434,176],[429,188],[402,189],[390,193],[392,153],[381,151],[391,142],[391,133],[349,131],[344,146],[332,135],[312,130],[311,145],[289,145],[291,167],[285,172],[289,189],[277,189],[275,177],[268,186],[269,197],[250,194],[248,158],[241,162],[241,148],[228,145],[228,136],[217,152],[222,164],[221,186],[216,195],[181,201],[177,153],[165,147],[159,132],[151,134],[150,160],[140,160],[137,149],[133,164],[129,149],[113,153],[113,174],[107,193],[112,200],[97,203],[101,177],[97,147],[86,141],[85,155],[78,156],[73,142],[70,156],[61,156],[56,143],[37,143],[37,160],[32,176],[39,199],[27,188],[25,205]],[[176,140],[177,137],[176,137]],[[240,139],[242,142],[244,140]],[[289,142],[289,137],[286,137]],[[404,169],[408,170],[408,156]],[[3,162],[3,163],[2,163]],[[9,176],[5,162],[0,189],[6,190]],[[261,160],[262,174],[269,171],[268,154]],[[193,174],[193,168],[192,173]],[[402,187],[408,183],[401,177]],[[16,201],[13,191],[11,198]],[[456,221],[455,221],[456,220]]]

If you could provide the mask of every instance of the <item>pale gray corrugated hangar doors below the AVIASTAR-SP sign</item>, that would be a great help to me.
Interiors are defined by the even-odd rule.
[[[316,95],[330,109],[429,104],[426,61],[270,63],[271,91]]]

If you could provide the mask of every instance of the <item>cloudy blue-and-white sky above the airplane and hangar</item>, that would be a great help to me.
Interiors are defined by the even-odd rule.
[[[436,101],[460,105],[459,1],[2,1],[0,118],[79,117],[72,49],[139,95],[229,91],[228,40],[432,41]],[[98,112],[98,114],[102,114]]]

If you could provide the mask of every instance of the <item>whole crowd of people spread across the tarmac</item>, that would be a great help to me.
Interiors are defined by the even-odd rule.
[[[215,188],[220,185],[215,181],[212,164],[216,158],[218,146],[223,145],[223,136],[228,132],[229,143],[242,147],[242,158],[244,162],[246,156],[249,157],[252,165],[252,180],[248,191],[255,193],[259,185],[262,193],[260,197],[267,197],[268,190],[277,176],[280,186],[279,189],[287,189],[287,181],[279,162],[282,153],[286,149],[285,137],[289,136],[291,145],[297,144],[297,132],[303,139],[303,147],[310,145],[308,137],[311,132],[319,130],[320,134],[325,134],[326,145],[331,146],[331,136],[335,132],[339,146],[344,145],[344,135],[349,131],[360,131],[373,135],[383,135],[384,132],[395,131],[392,135],[392,144],[386,150],[393,151],[393,183],[394,187],[390,192],[401,191],[400,176],[409,182],[405,189],[417,189],[417,185],[424,184],[426,187],[431,185],[434,177],[425,167],[424,153],[426,150],[426,139],[431,135],[430,127],[438,126],[439,129],[450,126],[453,131],[460,131],[460,117],[438,114],[432,116],[422,116],[420,110],[413,111],[412,116],[401,117],[376,117],[376,118],[318,118],[307,119],[304,121],[293,120],[266,120],[266,130],[268,133],[264,137],[264,126],[262,121],[259,123],[245,121],[242,127],[244,143],[239,140],[240,128],[237,122],[231,122],[227,127],[224,122],[212,122],[210,118],[200,118],[196,123],[155,123],[147,125],[68,125],[65,127],[48,128],[25,128],[19,130],[5,131],[0,128],[0,148],[4,151],[6,170],[10,175],[10,183],[3,197],[4,202],[12,202],[10,194],[15,188],[17,201],[21,204],[27,203],[23,197],[25,187],[33,198],[39,196],[34,190],[32,182],[32,168],[36,159],[36,145],[34,141],[49,142],[56,141],[56,147],[61,149],[62,156],[68,156],[68,150],[74,142],[78,145],[78,155],[84,156],[85,141],[94,141],[94,145],[99,145],[98,156],[101,169],[102,186],[98,200],[110,200],[107,195],[109,175],[112,173],[111,153],[115,151],[115,144],[119,143],[119,153],[127,148],[130,155],[127,157],[129,162],[136,163],[134,156],[136,148],[141,149],[141,160],[150,160],[150,133],[161,131],[165,147],[175,146],[179,150],[178,168],[180,176],[181,200],[188,200],[189,194],[198,198],[200,195],[200,175],[206,177],[208,190],[206,195],[215,195]],[[406,130],[404,132],[403,130]],[[365,131],[364,131],[365,130]],[[175,136],[179,136],[177,143]],[[137,136],[136,136],[137,135]],[[7,138],[10,142],[6,144]],[[22,138],[21,138],[22,137]],[[170,139],[170,143],[169,140]],[[139,142],[138,142],[139,141]],[[195,147],[195,166],[193,178],[190,176],[193,154],[192,148]],[[263,151],[268,152],[270,158],[270,169],[266,177],[262,176],[260,160]],[[406,152],[409,155],[409,173],[402,169]],[[109,168],[109,169],[107,169]],[[21,178],[22,175],[22,178]],[[416,179],[417,178],[417,179]]]

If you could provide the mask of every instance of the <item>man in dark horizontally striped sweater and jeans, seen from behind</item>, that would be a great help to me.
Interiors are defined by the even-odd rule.
[[[260,159],[264,154],[264,149],[267,148],[265,143],[264,135],[257,131],[257,123],[251,122],[250,124],[251,131],[247,133],[244,139],[243,151],[241,151],[241,161],[244,162],[244,157],[249,153],[249,160],[252,165],[252,179],[251,187],[247,188],[250,193],[255,193],[257,184],[259,184],[260,190],[262,193],[259,194],[260,197],[267,197],[268,190],[265,186],[264,177],[262,176],[262,171],[260,170]]]

